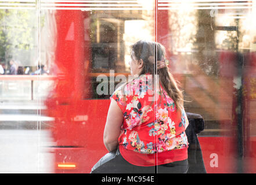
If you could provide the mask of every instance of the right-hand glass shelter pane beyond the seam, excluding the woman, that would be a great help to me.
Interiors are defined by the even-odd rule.
[[[172,43],[166,45],[169,66],[184,90],[185,110],[204,119],[198,135],[206,171],[253,172],[243,157],[255,161],[250,112],[254,86],[248,80],[255,73],[254,2],[158,2],[159,14],[167,12],[170,25],[157,36]],[[166,21],[157,23],[163,29]],[[191,147],[198,144],[192,140]]]

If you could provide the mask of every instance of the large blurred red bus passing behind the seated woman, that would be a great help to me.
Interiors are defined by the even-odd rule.
[[[237,30],[243,28],[243,19],[230,18],[239,27],[220,25],[219,20],[230,13],[221,2],[217,8],[127,3],[101,3],[100,8],[88,3],[86,9],[82,4],[56,2],[56,86],[45,101],[48,116],[55,118],[55,172],[89,173],[107,153],[103,129],[110,86],[120,82],[118,75],[129,75],[128,46],[143,38],[165,46],[170,71],[188,99],[186,112],[204,118],[199,141],[207,173],[255,173],[256,58],[252,49],[239,47],[246,42]],[[248,13],[248,7],[242,10]],[[221,40],[223,36],[227,39]],[[99,81],[99,75],[107,82]],[[100,83],[106,83],[107,95],[96,93]]]

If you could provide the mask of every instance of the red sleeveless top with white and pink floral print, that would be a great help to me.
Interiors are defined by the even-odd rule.
[[[162,87],[156,92],[154,97],[152,75],[140,75],[111,95],[124,114],[120,151],[154,154],[188,148],[185,110],[177,111]]]

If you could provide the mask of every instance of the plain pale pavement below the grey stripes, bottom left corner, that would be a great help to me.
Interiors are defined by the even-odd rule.
[[[53,145],[47,130],[0,129],[0,173],[53,173]]]

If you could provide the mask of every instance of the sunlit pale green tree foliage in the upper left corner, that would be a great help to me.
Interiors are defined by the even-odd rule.
[[[8,61],[15,51],[33,48],[33,10],[0,10],[0,59]]]

